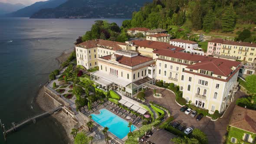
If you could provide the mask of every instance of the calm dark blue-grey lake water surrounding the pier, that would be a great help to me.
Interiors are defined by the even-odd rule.
[[[0,119],[7,128],[42,111],[34,103],[40,85],[59,68],[56,57],[103,19],[0,18]],[[105,19],[119,26],[124,19]],[[41,43],[39,43],[39,40]],[[12,40],[12,42],[10,42]],[[34,109],[30,108],[30,105]],[[46,117],[7,136],[6,144],[66,144],[62,126]],[[0,144],[4,144],[0,129]]]

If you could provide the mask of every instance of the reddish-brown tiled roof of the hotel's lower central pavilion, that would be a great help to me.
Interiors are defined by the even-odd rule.
[[[105,60],[110,60],[112,55],[108,55],[108,56],[103,56],[100,57],[100,59],[105,59]],[[121,56],[121,55],[115,55],[116,59],[118,61],[118,63],[123,64],[123,65],[128,65],[128,66],[135,66],[135,65],[139,65],[141,63],[144,62],[149,62],[151,60],[153,60],[150,57],[147,56],[135,56],[135,57],[127,57],[127,56]]]

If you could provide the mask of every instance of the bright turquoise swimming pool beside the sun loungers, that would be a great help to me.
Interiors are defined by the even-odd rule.
[[[113,114],[111,111],[103,108],[100,111],[100,114],[92,114],[92,119],[96,123],[100,124],[102,127],[108,127],[108,131],[112,134],[115,134],[118,138],[124,138],[130,131],[128,127],[128,122],[124,119]],[[131,131],[134,131],[136,127],[131,125]]]

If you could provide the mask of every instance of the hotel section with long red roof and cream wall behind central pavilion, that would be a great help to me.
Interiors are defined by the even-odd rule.
[[[141,53],[141,55],[148,56],[148,57],[153,57],[152,52],[155,49],[170,49],[172,51],[177,51],[177,52],[184,51],[183,48],[172,46],[169,43],[156,42],[151,40],[132,40],[128,44],[130,45],[131,50],[139,52]]]

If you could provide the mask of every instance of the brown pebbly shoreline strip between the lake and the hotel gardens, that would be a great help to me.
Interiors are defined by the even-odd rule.
[[[60,56],[56,57],[59,64],[66,61],[73,49],[74,48],[65,50]],[[57,102],[45,94],[43,86],[39,89],[38,95],[36,97],[36,103],[43,111],[49,111],[50,109],[59,106]],[[66,113],[63,111],[53,114],[51,117],[55,118],[56,121],[59,121],[59,123],[62,124],[62,127],[66,131],[66,137],[69,140],[68,144],[73,144],[74,138],[70,133],[77,122],[75,122],[70,116],[66,115]]]

